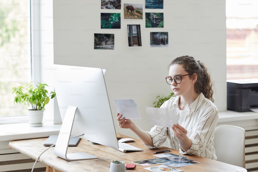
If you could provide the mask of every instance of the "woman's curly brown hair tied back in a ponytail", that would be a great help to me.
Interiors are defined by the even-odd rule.
[[[169,65],[168,69],[170,68],[171,65],[173,64],[181,64],[184,67],[184,70],[188,73],[196,73],[197,74],[197,80],[195,82],[194,88],[195,91],[202,92],[203,95],[214,102],[214,99],[212,98],[213,95],[213,90],[212,90],[212,85],[213,82],[211,80],[211,76],[208,73],[207,68],[205,65],[200,62],[196,61],[193,57],[191,56],[181,56],[177,57],[174,59]]]

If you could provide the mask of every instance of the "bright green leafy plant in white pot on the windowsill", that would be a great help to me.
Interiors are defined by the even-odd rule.
[[[48,94],[45,86],[48,87],[47,84],[38,83],[34,89],[33,84],[29,83],[25,90],[22,86],[13,87],[13,94],[16,94],[14,103],[23,103],[31,107],[31,109],[27,110],[30,126],[38,127],[43,125],[45,105],[55,97],[55,92],[52,91]]]

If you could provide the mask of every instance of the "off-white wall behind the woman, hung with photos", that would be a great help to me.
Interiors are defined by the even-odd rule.
[[[122,0],[142,3],[144,0]],[[123,19],[123,9],[101,9],[101,0],[53,1],[54,64],[107,69],[105,80],[111,110],[116,122],[114,98],[133,98],[141,120],[135,122],[150,130],[145,107],[152,107],[158,95],[172,91],[165,77],[167,65],[176,57],[193,56],[211,72],[215,104],[226,110],[226,26],[225,0],[164,0],[164,9],[143,8],[143,20]],[[100,29],[100,13],[121,13],[121,29]],[[163,12],[164,28],[145,28],[145,12]],[[141,25],[141,47],[128,47],[127,24]],[[168,32],[168,47],[150,47],[150,32]],[[94,50],[94,33],[115,34],[114,50]],[[117,132],[134,136],[127,129]]]

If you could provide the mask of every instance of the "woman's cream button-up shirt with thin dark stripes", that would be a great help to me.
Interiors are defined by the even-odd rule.
[[[176,108],[179,125],[187,130],[187,136],[192,140],[191,147],[184,152],[174,135],[172,128],[154,126],[149,135],[152,137],[154,146],[146,145],[149,148],[157,148],[162,145],[167,137],[169,147],[179,150],[180,154],[194,154],[201,157],[216,160],[215,150],[213,148],[214,130],[218,120],[218,110],[209,99],[205,98],[203,93],[199,93],[197,99],[189,106],[189,112],[186,116],[179,114],[180,96],[171,97],[164,102],[160,108]]]

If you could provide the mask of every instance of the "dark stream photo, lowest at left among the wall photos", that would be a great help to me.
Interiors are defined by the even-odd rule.
[[[114,34],[94,34],[94,49],[114,50]]]

